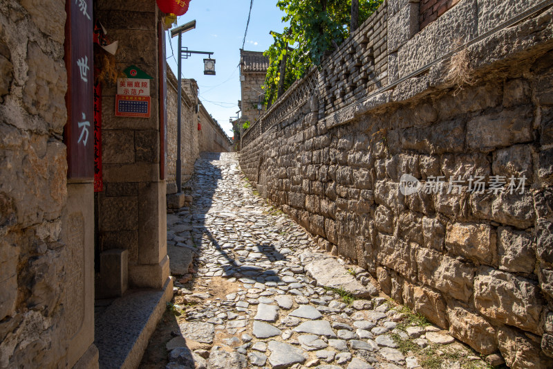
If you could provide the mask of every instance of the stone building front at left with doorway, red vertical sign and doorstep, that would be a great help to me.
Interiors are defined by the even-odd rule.
[[[150,0],[0,3],[0,368],[136,367],[171,299],[164,16]],[[115,116],[115,83],[94,96],[96,20],[115,69],[151,76],[149,116]]]

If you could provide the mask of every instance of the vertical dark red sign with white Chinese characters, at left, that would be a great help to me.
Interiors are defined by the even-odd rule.
[[[67,177],[94,177],[94,54],[92,0],[66,1]]]

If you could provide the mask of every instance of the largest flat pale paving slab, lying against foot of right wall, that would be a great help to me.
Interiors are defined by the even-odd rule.
[[[306,264],[308,276],[317,281],[319,287],[344,289],[356,298],[376,296],[377,289],[369,283],[365,287],[352,276],[335,258],[328,258],[324,254],[314,254],[316,257]],[[317,257],[320,255],[319,257]]]

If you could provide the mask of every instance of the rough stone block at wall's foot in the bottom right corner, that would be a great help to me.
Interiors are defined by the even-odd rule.
[[[504,326],[498,328],[497,338],[499,351],[509,368],[545,369],[552,367],[553,361],[541,352],[538,336]]]

